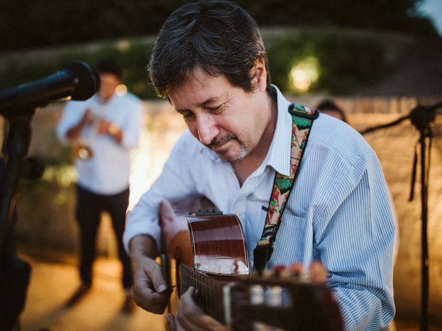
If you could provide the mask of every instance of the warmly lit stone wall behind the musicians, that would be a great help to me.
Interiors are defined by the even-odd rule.
[[[315,105],[320,97],[297,99]],[[389,98],[345,99],[336,101],[349,116],[349,123],[357,130],[389,123],[404,116],[419,103],[432,104],[438,99]],[[57,157],[62,148],[55,139],[55,125],[61,114],[61,105],[52,105],[37,112],[32,122],[33,135],[30,154]],[[436,117],[430,161],[427,238],[430,267],[431,319],[442,320],[442,120]],[[146,103],[146,130],[140,148],[134,152],[131,183],[131,205],[140,197],[160,173],[169,152],[185,130],[180,116],[169,103]],[[414,201],[408,201],[414,146],[419,132],[409,120],[392,128],[365,134],[365,139],[378,154],[385,178],[390,187],[398,216],[399,242],[394,269],[394,297],[401,317],[419,319],[421,291],[421,199],[419,166]],[[419,165],[419,163],[418,163]],[[73,218],[75,197],[72,188],[48,185],[46,189],[22,188],[19,199],[17,240],[26,250],[44,252],[51,248],[77,253],[77,226]],[[116,256],[115,239],[111,226],[104,217],[99,237],[101,254]],[[441,321],[442,323],[442,321]]]

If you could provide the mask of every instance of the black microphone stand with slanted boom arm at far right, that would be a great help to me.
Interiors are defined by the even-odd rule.
[[[373,132],[381,128],[390,128],[398,123],[410,119],[413,126],[419,130],[419,143],[421,145],[421,218],[422,218],[422,241],[421,241],[421,331],[428,331],[427,312],[428,312],[428,289],[430,279],[428,276],[429,259],[428,259],[428,242],[427,242],[427,220],[428,220],[428,174],[430,170],[430,149],[432,143],[432,123],[436,119],[436,109],[442,107],[441,103],[433,106],[416,106],[410,114],[396,119],[391,123],[383,124],[367,128],[361,131],[361,134]],[[427,147],[428,140],[428,147]],[[428,165],[425,164],[426,150],[428,148]],[[410,201],[413,199],[414,179],[416,178],[416,154],[414,155],[414,165],[412,174],[412,190]]]

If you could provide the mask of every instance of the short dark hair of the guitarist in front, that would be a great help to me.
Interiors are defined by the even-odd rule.
[[[158,34],[148,72],[158,96],[167,97],[200,68],[224,75],[232,86],[251,92],[253,66],[262,59],[270,73],[261,34],[251,15],[229,1],[187,3],[173,12]]]

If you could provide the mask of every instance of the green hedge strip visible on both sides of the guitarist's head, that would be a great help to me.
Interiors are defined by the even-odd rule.
[[[289,77],[291,68],[305,59],[316,63],[318,79],[309,92],[346,94],[361,86],[376,83],[392,68],[387,63],[383,39],[371,34],[329,30],[286,29],[264,32],[269,52],[273,83],[283,92],[299,94]],[[124,83],[142,99],[155,98],[148,82],[146,65],[154,37],[104,41],[98,46],[67,48],[44,57],[9,59],[0,68],[0,90],[52,74],[66,63],[79,59],[96,63],[101,57],[113,57],[124,67]]]

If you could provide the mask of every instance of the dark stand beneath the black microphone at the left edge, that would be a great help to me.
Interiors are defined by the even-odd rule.
[[[16,199],[20,177],[29,177],[32,164],[25,159],[31,139],[30,121],[35,108],[0,110],[8,126],[3,141],[0,178],[0,325],[7,330],[17,325],[30,280],[30,265],[15,255],[14,230],[17,221]]]

